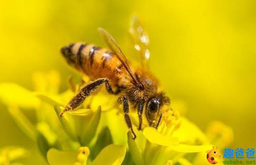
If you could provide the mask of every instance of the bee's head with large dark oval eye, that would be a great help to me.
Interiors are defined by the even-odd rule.
[[[161,115],[161,108],[168,105],[170,100],[163,93],[159,93],[155,97],[151,97],[146,104],[146,117],[150,126],[156,127]]]

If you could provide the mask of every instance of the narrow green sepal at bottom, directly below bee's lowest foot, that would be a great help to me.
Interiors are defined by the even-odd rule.
[[[141,156],[141,150],[137,146],[136,140],[132,139],[131,131],[127,132],[127,139],[128,139],[128,146],[129,146],[130,152],[132,154],[133,162],[136,165],[144,165],[144,161]]]

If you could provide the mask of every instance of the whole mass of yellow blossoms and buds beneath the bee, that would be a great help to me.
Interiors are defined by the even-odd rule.
[[[144,116],[143,131],[135,130],[137,139],[133,140],[130,131],[126,136],[122,107],[116,106],[114,96],[106,97],[100,91],[60,118],[63,105],[78,92],[79,85],[70,78],[70,88],[59,93],[61,80],[56,71],[35,73],[33,79],[34,92],[17,84],[0,84],[0,100],[50,165],[202,165],[206,161],[203,154],[212,143],[223,147],[233,139],[232,130],[221,122],[210,125],[205,134],[177,110],[166,109],[158,130],[149,127]],[[13,90],[17,95],[8,94]],[[34,112],[36,123],[23,111]],[[130,115],[138,125],[136,112]],[[188,160],[188,154],[194,160]]]

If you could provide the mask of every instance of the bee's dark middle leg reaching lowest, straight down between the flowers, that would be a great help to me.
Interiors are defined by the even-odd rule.
[[[133,129],[132,129],[132,122],[129,116],[129,101],[127,96],[121,96],[118,98],[118,103],[123,103],[123,110],[124,110],[124,120],[128,126],[128,128],[131,130],[132,132],[132,139],[136,139],[136,134],[134,133]]]

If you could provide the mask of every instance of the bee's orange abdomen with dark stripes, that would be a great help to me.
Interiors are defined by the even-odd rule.
[[[62,54],[71,66],[91,79],[108,78],[114,85],[118,84],[124,69],[113,52],[93,44],[70,44],[62,48]]]

